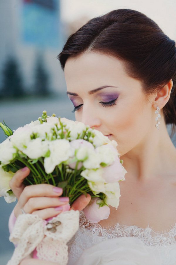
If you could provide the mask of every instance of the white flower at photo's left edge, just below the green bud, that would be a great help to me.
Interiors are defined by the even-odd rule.
[[[13,154],[16,153],[16,149],[13,148],[13,144],[7,138],[4,142],[0,144],[0,161],[7,165],[13,160]]]

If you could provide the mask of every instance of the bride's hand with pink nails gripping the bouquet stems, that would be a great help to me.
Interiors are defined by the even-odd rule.
[[[62,189],[49,184],[37,184],[24,186],[23,179],[28,176],[30,170],[23,168],[18,170],[9,185],[13,193],[18,198],[18,203],[14,208],[14,214],[17,217],[21,214],[21,208],[26,213],[37,214],[40,218],[47,219],[57,216],[63,208],[68,208],[68,198],[59,198],[62,195]],[[64,200],[64,201],[63,201]],[[81,211],[87,206],[91,196],[81,195],[72,205],[72,209]],[[63,207],[63,208],[60,208]]]

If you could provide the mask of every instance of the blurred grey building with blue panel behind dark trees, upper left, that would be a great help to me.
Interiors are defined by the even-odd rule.
[[[16,60],[27,92],[35,89],[39,64],[48,74],[51,91],[65,88],[56,58],[65,39],[60,21],[60,0],[1,0],[0,39],[0,89],[4,82],[4,67],[10,58]]]

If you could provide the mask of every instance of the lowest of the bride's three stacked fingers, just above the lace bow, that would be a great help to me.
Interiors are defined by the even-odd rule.
[[[46,220],[48,218],[57,216],[58,214],[60,214],[64,211],[69,211],[69,210],[70,210],[70,204],[66,204],[66,205],[58,206],[58,207],[54,207],[54,208],[46,208],[43,210],[34,211],[32,214],[36,214],[36,215],[38,215],[39,218]]]

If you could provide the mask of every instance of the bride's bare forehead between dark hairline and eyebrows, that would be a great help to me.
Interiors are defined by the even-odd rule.
[[[83,85],[84,89],[91,90],[104,85],[129,87],[129,84],[136,86],[136,82],[140,83],[127,74],[120,59],[97,52],[69,57],[64,73],[68,91],[77,90]]]

